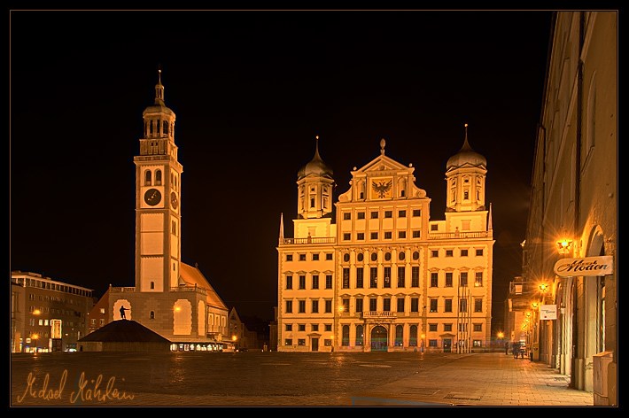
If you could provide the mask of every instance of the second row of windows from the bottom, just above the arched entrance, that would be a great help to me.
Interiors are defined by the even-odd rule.
[[[482,313],[483,312],[483,298],[470,298],[471,303],[473,304],[472,310],[474,313]],[[380,303],[378,302],[380,301]],[[410,313],[419,313],[419,298],[410,298],[410,306],[407,306],[406,298],[396,298],[394,301],[395,304],[395,312],[397,313],[405,313],[409,308],[408,312]],[[458,298],[458,311],[459,313],[466,313],[469,309],[469,301],[468,298]],[[297,314],[332,314],[332,300],[325,299],[323,300],[323,306],[320,306],[319,299],[310,299],[310,311],[307,312],[307,300],[298,300],[297,301]],[[392,312],[392,298],[369,298],[368,304],[369,306],[364,306],[365,299],[364,298],[354,298],[354,308],[355,314],[361,314],[365,312],[365,307],[367,312]],[[431,314],[435,313],[454,313],[454,298],[443,298],[443,306],[439,309],[439,298],[430,298],[429,300],[429,312]],[[284,301],[284,312],[286,314],[293,314],[293,300],[285,300]],[[320,312],[322,309],[322,312]],[[341,299],[341,306],[339,311],[342,313],[350,314],[350,298]]]

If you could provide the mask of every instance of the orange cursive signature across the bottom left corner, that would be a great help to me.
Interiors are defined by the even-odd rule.
[[[124,379],[123,379],[124,380]],[[48,374],[43,378],[41,387],[36,383],[37,378],[33,373],[29,373],[27,377],[27,389],[18,396],[18,402],[21,403],[28,397],[33,399],[53,400],[53,399],[65,399],[64,390],[66,389],[67,370],[64,370],[59,380],[59,384],[56,387],[50,387],[50,376]],[[77,386],[74,391],[70,393],[67,400],[71,403],[85,402],[85,401],[97,401],[105,402],[106,400],[122,400],[133,399],[134,395],[127,394],[124,391],[119,391],[114,387],[116,382],[115,377],[110,377],[105,387],[101,387],[103,383],[103,375],[98,375],[96,379],[86,379],[85,373],[81,373]]]

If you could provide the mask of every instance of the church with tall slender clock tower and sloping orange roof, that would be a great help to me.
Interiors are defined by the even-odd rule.
[[[182,262],[182,165],[175,144],[175,112],[155,86],[143,113],[136,164],[136,286],[110,287],[113,321],[128,319],[167,338],[174,350],[221,350],[228,308],[197,266]]]

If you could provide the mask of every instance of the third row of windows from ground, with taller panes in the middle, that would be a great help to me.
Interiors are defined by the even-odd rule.
[[[384,278],[382,280],[382,287],[384,289],[391,288],[392,283],[397,283],[398,288],[406,288],[407,284],[407,275],[406,275],[406,266],[398,266],[397,268],[397,277],[392,278],[391,275],[392,269],[391,267],[383,267]],[[469,272],[459,272],[459,283],[460,287],[468,287],[469,286]],[[364,289],[365,288],[365,268],[364,267],[355,267],[355,282],[354,289]],[[395,282],[397,279],[397,282]],[[311,275],[310,276],[310,289],[319,289],[320,288],[320,279],[319,275]],[[443,287],[450,288],[454,287],[454,273],[451,271],[445,272],[443,276]],[[299,290],[307,289],[307,280],[306,275],[298,276],[298,287]],[[323,283],[323,289],[332,289],[332,275],[325,275],[325,282]],[[341,283],[341,287],[343,289],[350,289],[350,269],[348,267],[343,268],[343,280]],[[286,276],[285,281],[285,289],[292,290],[293,289],[293,278],[292,275]],[[369,267],[369,288],[377,289],[379,285],[378,280],[378,267]],[[483,286],[483,272],[477,271],[474,272],[474,287],[482,287]],[[410,287],[417,288],[419,287],[419,267],[413,266],[411,267],[411,275],[410,275]],[[436,288],[439,287],[439,272],[431,272],[431,279],[429,282],[429,287]]]

